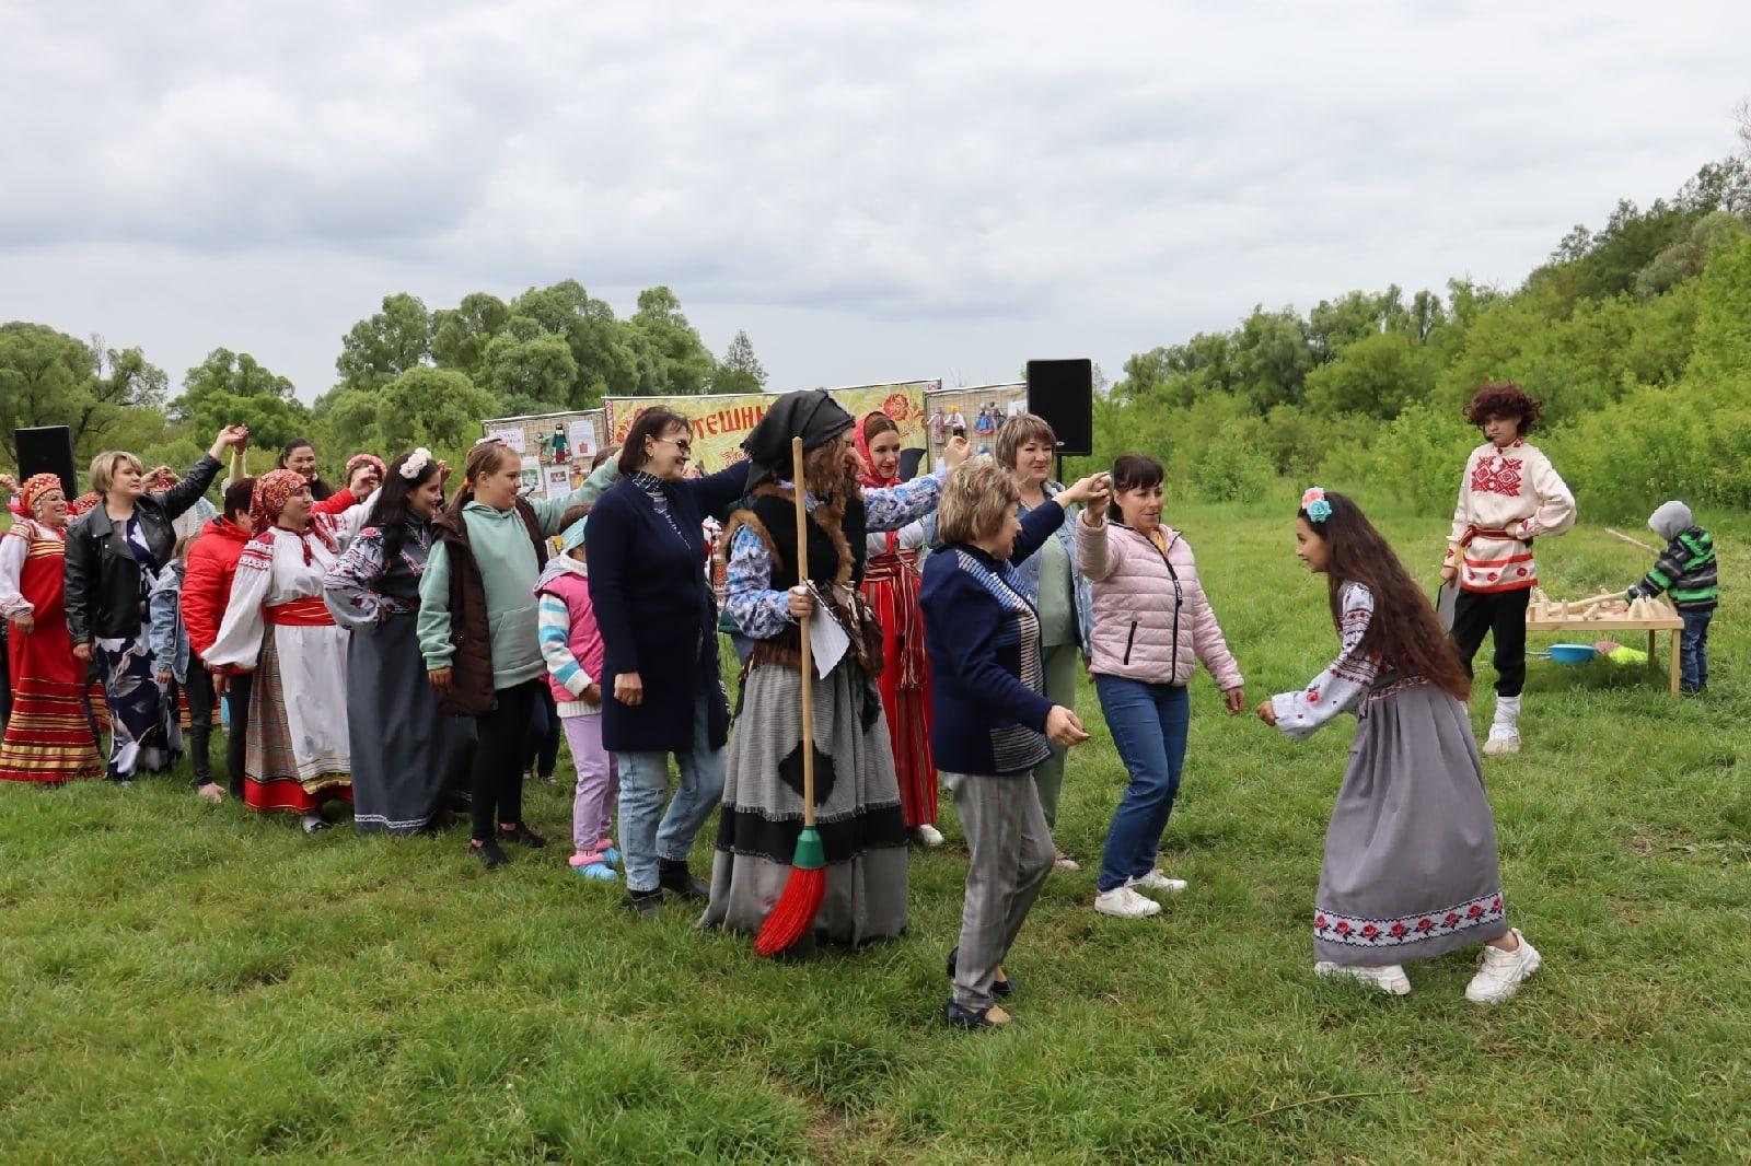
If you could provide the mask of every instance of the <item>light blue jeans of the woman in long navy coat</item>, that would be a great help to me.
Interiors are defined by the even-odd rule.
[[[657,860],[686,861],[699,828],[723,798],[725,751],[711,744],[711,704],[693,702],[693,748],[676,753],[681,786],[664,812],[669,793],[667,753],[615,753],[620,770],[620,858],[629,891],[657,889]]]

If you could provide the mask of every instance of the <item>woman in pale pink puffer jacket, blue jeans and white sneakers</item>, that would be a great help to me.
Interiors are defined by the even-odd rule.
[[[1156,459],[1126,453],[1112,464],[1108,513],[1087,508],[1075,523],[1077,567],[1094,585],[1089,672],[1131,774],[1107,828],[1094,910],[1124,919],[1161,910],[1138,888],[1185,889],[1182,879],[1156,870],[1156,847],[1180,790],[1191,713],[1185,685],[1198,662],[1215,678],[1229,716],[1247,707],[1240,667],[1198,581],[1192,548],[1178,530],[1161,525],[1161,476]]]

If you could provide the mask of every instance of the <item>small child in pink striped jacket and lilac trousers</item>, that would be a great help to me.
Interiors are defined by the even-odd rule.
[[[566,527],[560,551],[536,583],[541,658],[559,709],[578,786],[571,804],[574,853],[571,868],[585,879],[613,882],[620,853],[613,842],[613,805],[618,793],[615,758],[602,748],[602,634],[590,606],[590,576],[583,562],[583,527],[588,506]],[[567,515],[571,518],[571,515]]]

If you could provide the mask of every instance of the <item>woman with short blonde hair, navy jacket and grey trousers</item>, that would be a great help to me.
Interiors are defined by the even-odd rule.
[[[954,994],[944,1019],[1009,1022],[1016,991],[1003,958],[1052,870],[1051,828],[1033,770],[1051,744],[1087,741],[1077,714],[1045,699],[1040,611],[1014,562],[1028,558],[1077,502],[1107,504],[1107,474],[1017,516],[1009,467],[975,457],[949,474],[937,511],[942,550],[925,560],[925,644],[933,665],[930,746],[967,833],[961,942],[949,952]]]

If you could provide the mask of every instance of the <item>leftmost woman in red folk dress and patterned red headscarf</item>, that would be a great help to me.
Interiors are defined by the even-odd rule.
[[[19,506],[46,490],[60,490],[54,474],[37,474],[19,488]],[[12,720],[0,742],[0,781],[61,784],[102,777],[91,721],[86,718],[86,662],[74,655],[67,632],[63,569],[67,529],[18,516],[0,539],[0,615],[32,616],[30,632],[7,637],[12,676]]]

